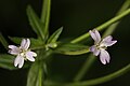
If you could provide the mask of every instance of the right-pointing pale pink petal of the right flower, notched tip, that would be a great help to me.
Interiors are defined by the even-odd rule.
[[[113,37],[112,35],[108,35],[106,38],[103,39],[103,41],[101,42],[101,46],[112,46],[114,45],[117,41],[112,41],[113,40]]]

